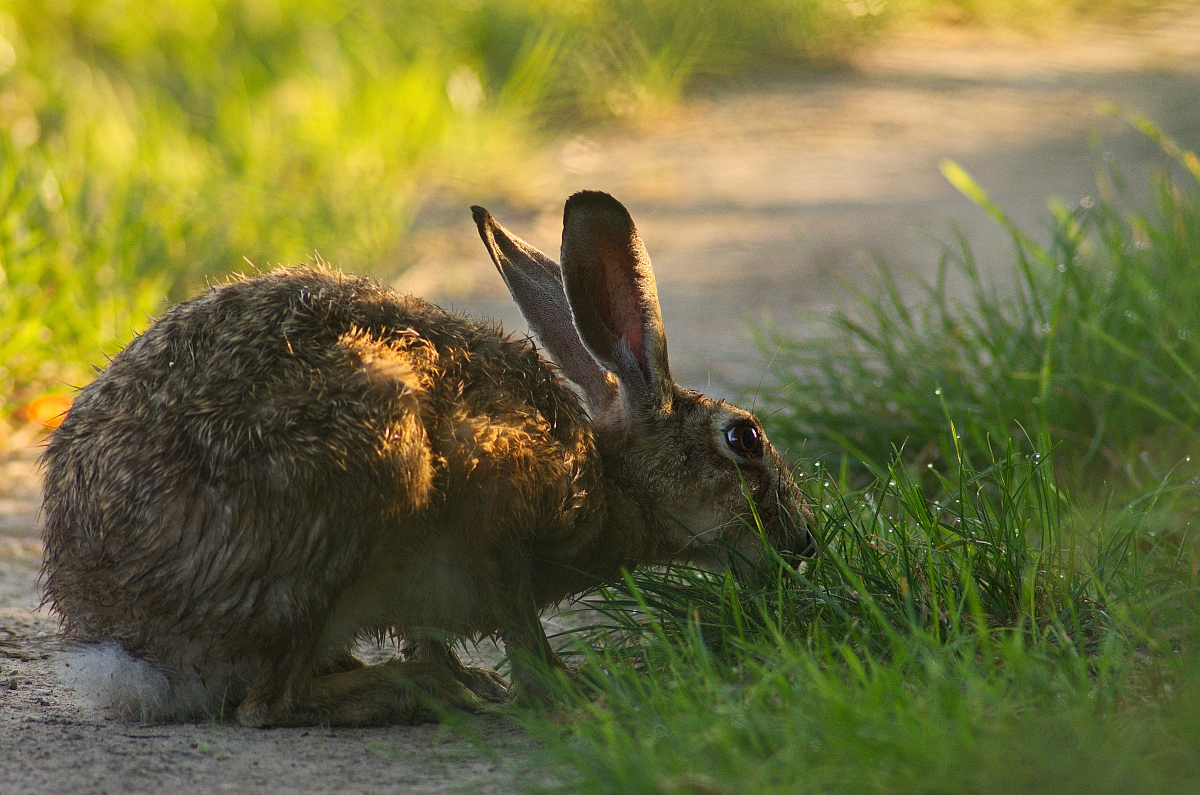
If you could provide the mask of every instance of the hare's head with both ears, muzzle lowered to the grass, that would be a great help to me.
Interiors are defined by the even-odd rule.
[[[472,210],[530,329],[578,387],[606,480],[638,506],[660,554],[754,562],[760,533],[811,552],[804,500],[758,419],[671,378],[654,271],[629,211],[607,193],[569,198],[559,267]]]

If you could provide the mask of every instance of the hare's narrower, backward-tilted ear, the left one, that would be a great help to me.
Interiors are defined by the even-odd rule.
[[[583,390],[593,416],[608,410],[617,384],[592,358],[571,319],[558,263],[496,222],[481,207],[470,208],[479,237],[521,307],[529,329],[538,336],[563,372]]]

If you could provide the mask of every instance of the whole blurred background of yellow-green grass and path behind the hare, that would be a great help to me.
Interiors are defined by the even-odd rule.
[[[1200,6],[6,0],[0,417],[317,253],[522,330],[467,207],[557,253],[584,187],[638,223],[676,376],[724,394],[750,329],[806,333],[876,262],[930,277],[950,225],[1012,262],[942,159],[1034,234],[1102,163],[1136,193],[1164,156],[1104,100],[1200,144]]]

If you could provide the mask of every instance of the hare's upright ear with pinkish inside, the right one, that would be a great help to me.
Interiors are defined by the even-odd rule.
[[[629,211],[583,191],[563,209],[563,280],[583,343],[635,405],[666,407],[671,370],[650,258]]]

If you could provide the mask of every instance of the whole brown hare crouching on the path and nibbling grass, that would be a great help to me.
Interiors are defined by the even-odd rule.
[[[752,561],[748,496],[809,549],[760,422],[671,379],[625,208],[570,197],[562,268],[472,210],[553,363],[318,263],[174,306],[79,393],[43,456],[43,578],[109,715],[367,725],[506,698],[455,638],[502,639],[545,695],[547,605],[638,563]],[[385,633],[400,658],[350,654]]]

